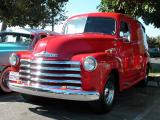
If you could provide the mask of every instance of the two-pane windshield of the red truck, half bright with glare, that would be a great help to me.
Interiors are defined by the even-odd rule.
[[[72,19],[66,23],[64,34],[75,33],[103,33],[114,35],[116,22],[112,18],[83,17]]]

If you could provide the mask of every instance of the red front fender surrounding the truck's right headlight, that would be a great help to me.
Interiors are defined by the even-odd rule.
[[[94,57],[98,63],[96,70],[91,72],[85,71],[83,68],[83,60],[88,56]],[[111,71],[115,69],[122,71],[121,60],[103,52],[76,55],[72,57],[72,60],[81,62],[81,80],[84,90],[96,90],[102,93]]]

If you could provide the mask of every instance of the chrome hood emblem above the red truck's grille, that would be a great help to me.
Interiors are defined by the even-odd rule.
[[[55,53],[49,53],[46,51],[42,51],[40,53],[34,54],[35,57],[46,57],[46,58],[52,58],[52,57],[58,57],[58,54]]]

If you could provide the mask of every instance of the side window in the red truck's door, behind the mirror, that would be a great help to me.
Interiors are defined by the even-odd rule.
[[[126,39],[128,42],[131,40],[129,26],[126,22],[121,22],[120,25],[120,37]]]

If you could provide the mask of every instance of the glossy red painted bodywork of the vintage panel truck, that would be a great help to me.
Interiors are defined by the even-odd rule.
[[[21,59],[37,59],[37,53],[48,52],[58,54],[57,57],[43,58],[52,61],[79,61],[81,63],[82,89],[98,91],[100,94],[107,82],[108,75],[118,72],[120,91],[131,87],[143,78],[149,62],[146,56],[140,24],[123,14],[92,13],[74,16],[68,21],[81,17],[107,17],[116,20],[115,35],[98,33],[83,33],[71,35],[56,35],[44,38],[36,44],[34,51],[17,53]],[[67,21],[67,22],[68,22]],[[124,21],[130,27],[130,42],[120,37],[120,24]],[[67,23],[66,23],[67,24]],[[94,57],[97,62],[96,70],[87,72],[83,68],[83,60],[87,56]],[[13,67],[12,71],[19,66]]]

